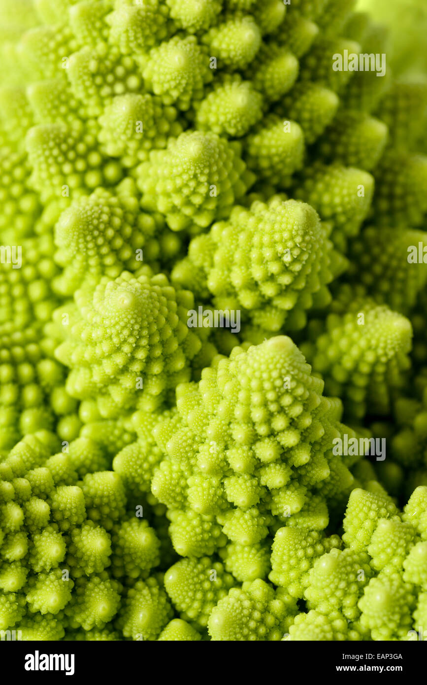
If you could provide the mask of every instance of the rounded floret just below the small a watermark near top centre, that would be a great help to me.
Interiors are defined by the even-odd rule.
[[[244,136],[263,115],[263,97],[255,87],[239,75],[224,76],[195,104],[197,128],[232,138]]]

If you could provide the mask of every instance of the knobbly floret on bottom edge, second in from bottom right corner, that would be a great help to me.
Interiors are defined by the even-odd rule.
[[[401,640],[413,623],[414,605],[413,585],[398,573],[380,573],[371,578],[359,600],[361,625],[373,640]]]

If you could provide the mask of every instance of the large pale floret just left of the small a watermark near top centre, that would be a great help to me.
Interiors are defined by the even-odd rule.
[[[144,69],[144,86],[165,105],[176,103],[180,110],[203,97],[205,84],[212,79],[209,55],[194,36],[174,36],[151,49]]]

